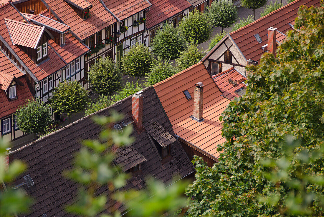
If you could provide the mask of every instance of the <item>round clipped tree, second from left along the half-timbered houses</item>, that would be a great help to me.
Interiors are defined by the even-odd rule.
[[[64,81],[55,87],[49,101],[59,114],[66,113],[68,115],[70,123],[71,115],[82,112],[90,98],[87,90],[81,87],[79,82]]]

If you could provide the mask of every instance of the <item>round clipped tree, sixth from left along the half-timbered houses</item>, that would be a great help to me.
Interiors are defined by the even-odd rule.
[[[205,13],[192,11],[189,16],[184,17],[179,27],[187,42],[200,44],[208,40],[211,27]]]

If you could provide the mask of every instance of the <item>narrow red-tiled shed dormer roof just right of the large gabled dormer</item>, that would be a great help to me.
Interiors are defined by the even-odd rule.
[[[31,18],[31,20],[37,25],[49,28],[59,33],[64,33],[70,29],[69,26],[41,14]]]

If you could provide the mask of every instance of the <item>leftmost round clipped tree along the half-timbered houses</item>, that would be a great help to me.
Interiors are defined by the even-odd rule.
[[[36,133],[44,133],[51,122],[48,108],[49,106],[39,99],[28,100],[26,105],[19,106],[15,114],[19,129],[26,133],[33,133],[35,140]]]

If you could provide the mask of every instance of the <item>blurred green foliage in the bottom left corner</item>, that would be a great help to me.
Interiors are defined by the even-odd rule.
[[[26,165],[19,160],[10,163],[9,169],[5,166],[7,155],[6,148],[9,144],[0,139],[0,216],[12,217],[17,213],[28,213],[28,207],[32,203],[26,196],[24,188],[12,189],[11,183],[20,173],[26,170]]]

